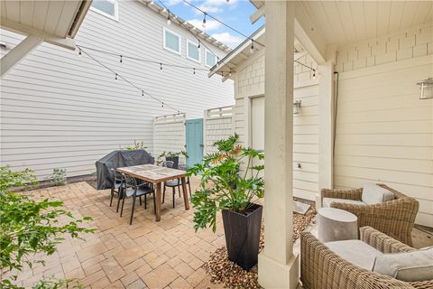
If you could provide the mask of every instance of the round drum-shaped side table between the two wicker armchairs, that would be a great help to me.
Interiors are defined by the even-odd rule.
[[[322,242],[357,239],[358,218],[346,210],[318,209],[318,239]]]

